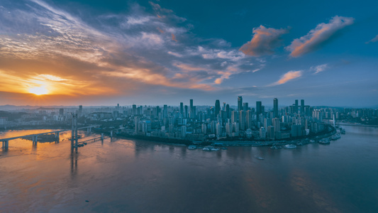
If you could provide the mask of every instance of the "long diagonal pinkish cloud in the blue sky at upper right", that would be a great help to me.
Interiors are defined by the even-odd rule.
[[[329,23],[319,23],[307,35],[294,39],[286,49],[291,52],[290,55],[292,57],[299,57],[309,53],[318,48],[319,45],[328,40],[337,31],[351,25],[354,20],[355,18],[334,16]]]

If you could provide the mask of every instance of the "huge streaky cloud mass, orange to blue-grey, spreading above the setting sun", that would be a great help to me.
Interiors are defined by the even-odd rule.
[[[0,82],[4,92],[25,93],[44,84],[67,95],[165,87],[209,91],[262,65],[226,40],[196,37],[185,18],[159,4],[150,3],[149,11],[130,3],[125,13],[93,17],[73,16],[40,0],[8,5],[0,13],[0,77],[6,73],[15,84]]]

